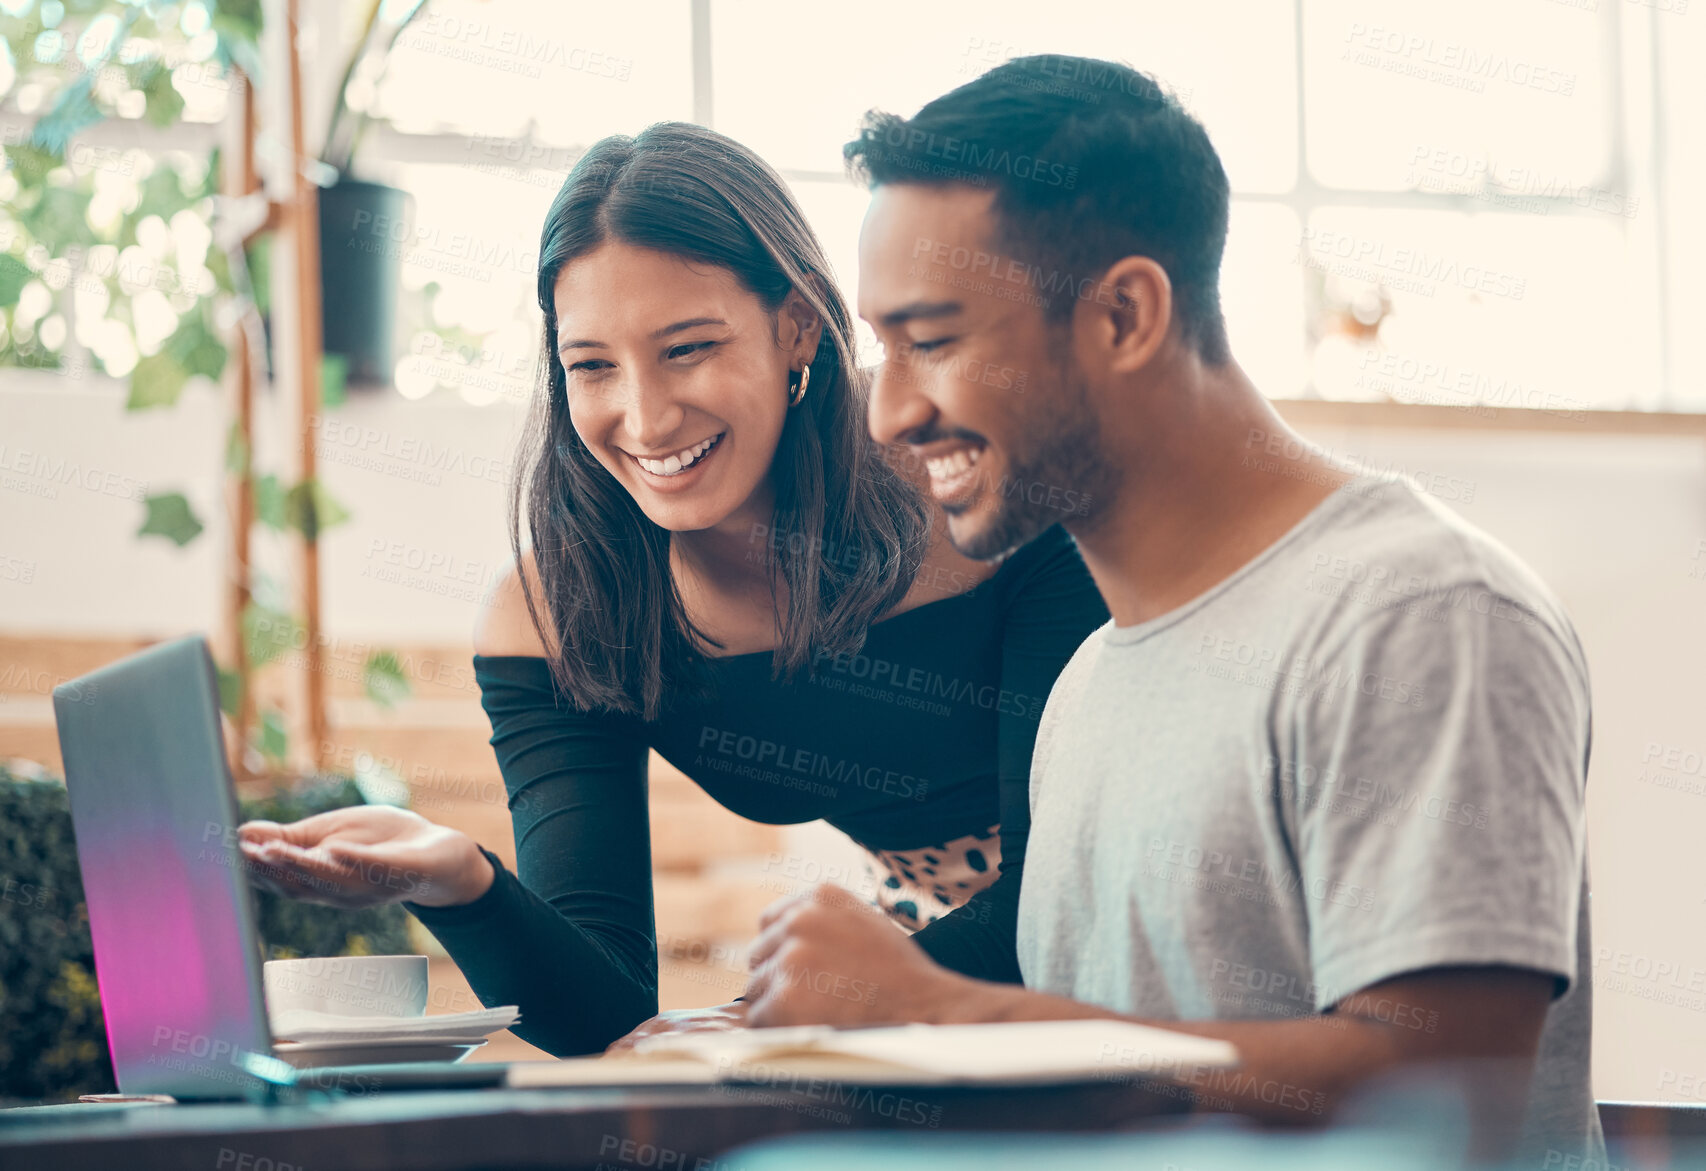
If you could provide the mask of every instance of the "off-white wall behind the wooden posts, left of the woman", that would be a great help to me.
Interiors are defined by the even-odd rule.
[[[27,582],[0,572],[0,628],[171,635],[217,623],[229,539],[222,399],[191,387],[169,410],[123,403],[121,389],[92,379],[0,374],[0,558],[32,567]],[[258,471],[283,466],[281,422],[263,401]],[[396,394],[326,411],[321,480],[353,512],[321,543],[329,635],[467,638],[479,591],[508,560],[503,497],[519,427],[507,405]],[[147,492],[184,492],[206,531],[183,550],[135,538]],[[258,556],[288,572],[283,543],[266,534]]]

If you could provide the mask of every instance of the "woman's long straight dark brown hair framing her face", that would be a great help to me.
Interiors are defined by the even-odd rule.
[[[541,642],[554,649],[558,686],[580,708],[653,720],[667,695],[703,693],[698,647],[720,644],[686,615],[669,531],[587,451],[568,417],[556,278],[606,241],[725,268],[771,312],[798,290],[824,323],[809,393],[788,410],[771,464],[771,531],[754,534],[788,594],[773,678],[863,645],[870,623],[911,587],[930,512],[865,428],[870,387],[846,302],[781,178],[732,138],[689,123],[597,142],[539,237],[543,360],[510,488],[510,546],[520,563],[525,519],[539,591],[525,574],[522,589]]]

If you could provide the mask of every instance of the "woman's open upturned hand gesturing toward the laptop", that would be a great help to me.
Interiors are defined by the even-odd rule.
[[[495,877],[461,830],[392,806],[350,806],[302,821],[246,821],[237,840],[249,876],[275,894],[331,906],[473,903]]]

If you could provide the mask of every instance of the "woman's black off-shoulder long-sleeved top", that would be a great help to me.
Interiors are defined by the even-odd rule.
[[[984,582],[870,626],[856,655],[771,679],[771,654],[711,659],[715,698],[653,722],[575,710],[537,657],[474,655],[508,790],[519,874],[461,906],[406,903],[483,1004],[566,1057],[657,1014],[647,749],[728,809],[824,819],[872,850],[1000,824],[1000,877],[913,939],[938,963],[1018,982],[1013,934],[1030,751],[1054,678],[1107,608],[1061,527]],[[754,923],[756,930],[756,923]]]

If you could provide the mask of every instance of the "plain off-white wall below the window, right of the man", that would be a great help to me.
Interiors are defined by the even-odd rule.
[[[1593,686],[1595,1092],[1706,1086],[1706,439],[1312,437],[1469,481],[1452,507],[1563,599]],[[1692,772],[1665,766],[1672,749]]]

